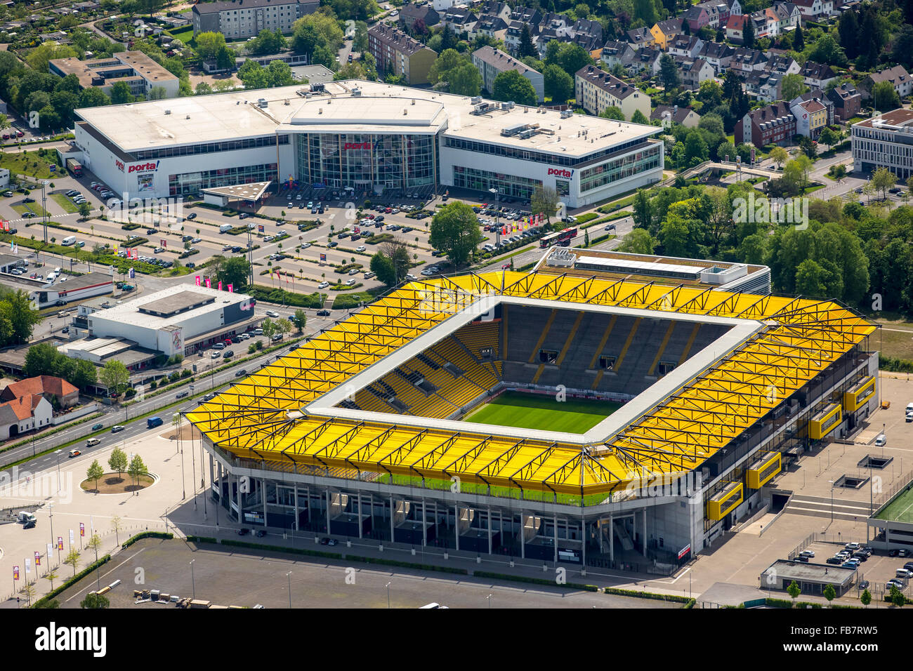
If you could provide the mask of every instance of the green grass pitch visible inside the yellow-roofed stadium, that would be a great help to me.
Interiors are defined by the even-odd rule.
[[[539,393],[505,392],[463,418],[465,422],[583,434],[622,404],[569,398],[557,401]]]

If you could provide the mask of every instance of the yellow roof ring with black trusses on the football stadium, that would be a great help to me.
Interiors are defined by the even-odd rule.
[[[740,346],[602,440],[585,445],[314,414],[305,406],[479,299],[544,299],[761,321]],[[711,288],[498,271],[415,281],[248,376],[188,419],[206,439],[265,467],[381,473],[576,495],[640,474],[698,467],[875,325],[833,301]],[[417,351],[415,352],[417,353]],[[429,420],[433,424],[434,420]],[[477,426],[477,425],[476,425]],[[341,470],[344,469],[344,470]]]

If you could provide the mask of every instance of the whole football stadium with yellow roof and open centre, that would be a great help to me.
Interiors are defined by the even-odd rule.
[[[673,570],[877,403],[831,300],[537,267],[415,280],[187,418],[230,519]]]

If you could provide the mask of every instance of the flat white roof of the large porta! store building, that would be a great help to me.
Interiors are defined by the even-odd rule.
[[[586,114],[561,119],[558,111],[521,105],[477,115],[472,113],[472,99],[466,96],[383,82],[356,79],[331,81],[324,86],[326,93],[313,94],[310,99],[299,95],[308,87],[298,85],[105,105],[82,108],[78,113],[125,152],[277,131],[436,132],[446,124],[447,135],[467,140],[585,156],[662,131],[656,126]],[[352,89],[358,89],[360,95],[352,95]],[[259,107],[258,99],[266,100],[267,106]],[[503,129],[520,124],[538,124],[544,132],[527,139],[501,135]]]

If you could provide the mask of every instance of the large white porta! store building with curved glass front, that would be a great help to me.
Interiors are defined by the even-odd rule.
[[[296,180],[343,193],[454,186],[517,198],[548,186],[579,207],[659,182],[663,170],[654,126],[369,81],[77,114],[71,154],[130,198]]]

